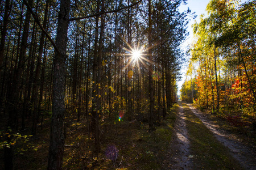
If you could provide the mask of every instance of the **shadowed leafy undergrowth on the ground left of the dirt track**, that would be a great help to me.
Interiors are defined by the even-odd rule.
[[[118,121],[114,115],[102,117],[101,151],[96,155],[86,116],[77,122],[76,113],[68,115],[65,118],[63,169],[161,169],[176,117],[175,111],[170,109],[151,133],[148,133],[147,122],[135,118],[127,121],[124,116]],[[15,169],[47,169],[49,128],[48,119],[42,130],[38,128],[38,135],[28,141],[32,147],[23,155],[15,155]]]

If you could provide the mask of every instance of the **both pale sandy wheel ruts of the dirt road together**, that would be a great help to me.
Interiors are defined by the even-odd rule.
[[[213,121],[210,121],[202,112],[187,104],[189,109],[195,114],[203,124],[212,131],[214,137],[229,150],[229,154],[233,156],[241,164],[244,169],[256,169],[256,155],[253,148],[243,145],[234,138],[230,138],[233,134],[220,129]],[[174,128],[174,138],[170,145],[170,153],[164,167],[166,169],[193,169],[193,155],[190,155],[190,141],[187,127],[185,124],[184,109],[179,103],[177,111],[176,124]],[[213,168],[214,169],[214,168]]]

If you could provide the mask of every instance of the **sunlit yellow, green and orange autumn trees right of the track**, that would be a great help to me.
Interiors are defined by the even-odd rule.
[[[255,1],[210,1],[193,24],[181,98],[234,124],[256,129]]]

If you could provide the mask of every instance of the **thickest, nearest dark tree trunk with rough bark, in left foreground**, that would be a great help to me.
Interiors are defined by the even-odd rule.
[[[47,169],[62,169],[64,154],[64,114],[65,114],[65,60],[67,58],[67,35],[70,0],[60,1],[56,46],[60,53],[55,52],[53,60],[53,99],[52,122]]]

